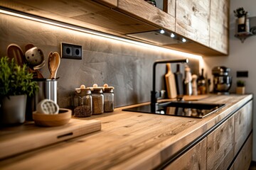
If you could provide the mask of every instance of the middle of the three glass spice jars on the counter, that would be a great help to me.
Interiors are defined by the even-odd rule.
[[[92,115],[104,113],[104,95],[103,88],[93,84],[92,91]]]

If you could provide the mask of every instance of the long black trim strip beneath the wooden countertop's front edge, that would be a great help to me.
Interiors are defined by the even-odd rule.
[[[252,99],[250,99],[250,101],[252,101]],[[242,108],[243,106],[245,106],[247,103],[249,103],[250,101],[247,101],[245,104],[243,104],[240,108]],[[171,162],[174,162],[175,159],[177,159],[178,157],[180,157],[182,154],[184,154],[185,152],[187,152],[189,149],[191,149],[192,147],[196,146],[199,142],[201,142],[205,137],[207,137],[211,132],[213,132],[215,129],[217,129],[220,125],[222,125],[226,120],[228,120],[232,115],[234,115],[238,110],[240,110],[240,108],[235,109],[234,111],[232,111],[231,113],[229,113],[225,118],[223,118],[223,120],[220,120],[220,122],[218,122],[217,124],[215,124],[213,126],[213,128],[210,128],[208,131],[206,131],[203,135],[199,136],[196,138],[196,140],[193,140],[191,143],[189,143],[188,145],[186,145],[186,147],[183,147],[183,149],[181,149],[180,152],[177,152],[176,154],[174,154],[173,156],[171,156],[168,160],[166,160],[163,164],[160,164],[159,166],[156,166],[156,168],[154,169],[164,169],[166,166],[168,166],[169,164],[171,164]]]

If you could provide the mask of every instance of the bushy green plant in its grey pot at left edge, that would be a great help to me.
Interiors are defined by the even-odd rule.
[[[0,125],[24,123],[26,97],[38,90],[26,64],[18,66],[14,59],[0,58]]]

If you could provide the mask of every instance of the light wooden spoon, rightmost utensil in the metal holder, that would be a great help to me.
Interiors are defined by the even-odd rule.
[[[60,55],[58,52],[53,52],[53,55],[49,56],[48,66],[50,66],[50,79],[56,79],[58,67],[60,66]]]

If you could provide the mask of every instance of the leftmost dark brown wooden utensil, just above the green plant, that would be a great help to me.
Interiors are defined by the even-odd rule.
[[[19,47],[16,44],[11,44],[7,47],[7,56],[10,59],[14,58],[14,61],[19,65],[23,66],[24,64],[24,54],[21,50],[21,47]]]

